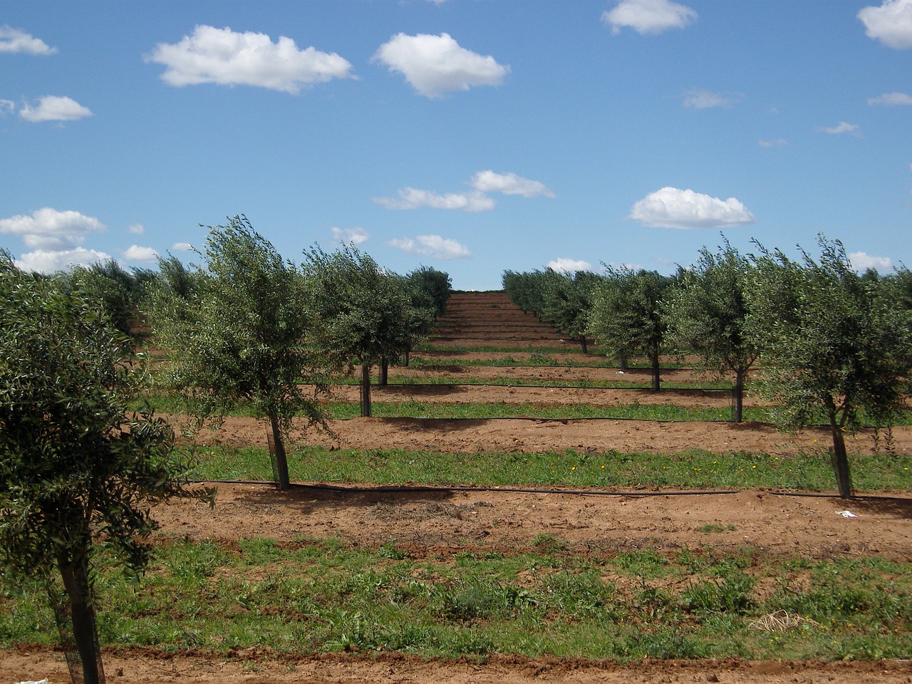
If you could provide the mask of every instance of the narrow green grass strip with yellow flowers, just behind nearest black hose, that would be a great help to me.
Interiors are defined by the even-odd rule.
[[[832,472],[824,453],[793,456],[746,451],[690,450],[440,452],[404,449],[355,450],[306,447],[290,455],[297,482],[675,490],[745,488],[830,492]],[[197,447],[193,476],[211,480],[270,480],[264,450]],[[861,492],[912,489],[912,456],[852,456]]]

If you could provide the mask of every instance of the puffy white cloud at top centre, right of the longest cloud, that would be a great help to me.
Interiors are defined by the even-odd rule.
[[[460,47],[446,33],[397,34],[378,48],[371,61],[398,71],[426,98],[440,98],[444,93],[472,86],[499,86],[510,73],[509,65]]]

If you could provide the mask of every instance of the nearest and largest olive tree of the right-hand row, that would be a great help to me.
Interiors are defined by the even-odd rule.
[[[877,280],[855,273],[843,245],[819,239],[799,261],[760,247],[747,288],[748,327],[761,350],[760,389],[774,419],[798,429],[821,419],[833,436],[840,496],[852,496],[845,434],[862,419],[889,424],[912,372],[912,316]]]

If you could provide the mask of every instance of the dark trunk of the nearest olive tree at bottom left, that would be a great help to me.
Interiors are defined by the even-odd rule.
[[[73,641],[81,661],[79,663],[81,667],[74,668],[76,663],[70,664],[67,657],[70,679],[74,679],[74,674],[81,668],[84,684],[100,684],[104,681],[105,673],[101,665],[101,653],[98,650],[98,630],[95,624],[95,606],[92,605],[88,584],[88,566],[85,561],[77,562],[61,556],[57,560],[57,569],[60,571],[63,586],[67,591],[73,626]],[[61,631],[61,638],[63,638],[65,627],[62,624],[58,627]]]

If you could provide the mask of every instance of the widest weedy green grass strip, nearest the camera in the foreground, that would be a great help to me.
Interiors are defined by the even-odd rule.
[[[711,546],[617,554],[547,535],[509,552],[427,557],[395,540],[173,539],[156,546],[150,571],[138,582],[99,577],[104,643],[621,662],[912,650],[912,568],[880,559],[795,562]],[[0,586],[0,645],[48,642],[53,620],[34,596]],[[788,626],[770,627],[782,611]]]

